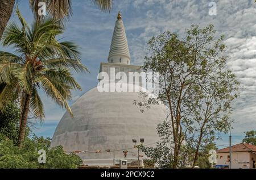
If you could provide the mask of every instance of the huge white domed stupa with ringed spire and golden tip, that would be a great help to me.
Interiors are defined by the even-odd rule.
[[[101,62],[100,72],[141,72],[140,66],[130,65],[122,16],[118,13],[115,23],[108,63]],[[101,79],[100,79],[101,80]],[[136,85],[135,85],[136,86]],[[167,117],[163,104],[140,111],[133,104],[139,93],[100,93],[97,87],[86,92],[72,105],[74,117],[66,112],[57,125],[51,146],[61,145],[65,152],[76,152],[85,165],[113,165],[113,160],[137,160],[137,142],[154,146],[159,140],[157,124]],[[127,152],[127,155],[125,155]]]

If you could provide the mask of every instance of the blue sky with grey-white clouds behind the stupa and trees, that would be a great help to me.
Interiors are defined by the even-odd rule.
[[[177,32],[181,36],[191,24],[201,27],[213,24],[218,34],[225,35],[228,45],[228,67],[236,73],[241,82],[241,97],[234,103],[232,118],[233,143],[240,143],[243,132],[256,130],[256,3],[254,0],[115,0],[110,13],[104,13],[91,1],[73,0],[73,15],[65,23],[64,40],[76,41],[82,52],[82,62],[90,74],[75,74],[82,91],[73,93],[72,104],[86,91],[97,85],[100,62],[106,62],[118,10],[129,43],[132,63],[140,65],[145,55],[145,45],[150,37],[164,31]],[[209,15],[209,3],[215,2],[217,15]],[[33,16],[27,1],[19,2],[20,11],[28,22]],[[15,15],[11,21],[16,20]],[[2,48],[13,51],[11,48]],[[57,107],[44,94],[46,119],[36,123],[34,132],[38,136],[52,137],[64,110]],[[223,135],[218,144],[228,144]]]

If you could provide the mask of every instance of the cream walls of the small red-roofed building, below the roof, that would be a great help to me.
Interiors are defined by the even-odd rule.
[[[251,160],[250,154],[250,152],[232,152],[232,169],[249,168],[250,166],[247,162]],[[229,165],[228,156],[229,153],[217,153],[216,165]]]

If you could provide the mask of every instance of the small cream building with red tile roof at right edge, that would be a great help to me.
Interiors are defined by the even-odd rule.
[[[231,148],[232,169],[255,169],[256,146],[246,143],[233,145]],[[229,168],[229,147],[217,150],[216,168]]]

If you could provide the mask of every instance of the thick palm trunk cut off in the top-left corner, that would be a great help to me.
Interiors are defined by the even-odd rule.
[[[0,0],[0,40],[13,12],[15,0]]]

